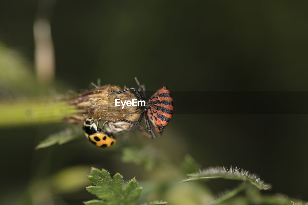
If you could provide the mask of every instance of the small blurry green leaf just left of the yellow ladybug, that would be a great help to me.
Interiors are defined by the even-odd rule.
[[[49,135],[46,139],[41,141],[38,146],[35,147],[35,149],[45,148],[49,147],[54,144],[64,144],[67,143],[73,139],[76,139],[78,137],[82,136],[82,129],[81,127],[68,127],[65,130],[62,130],[58,133]]]

